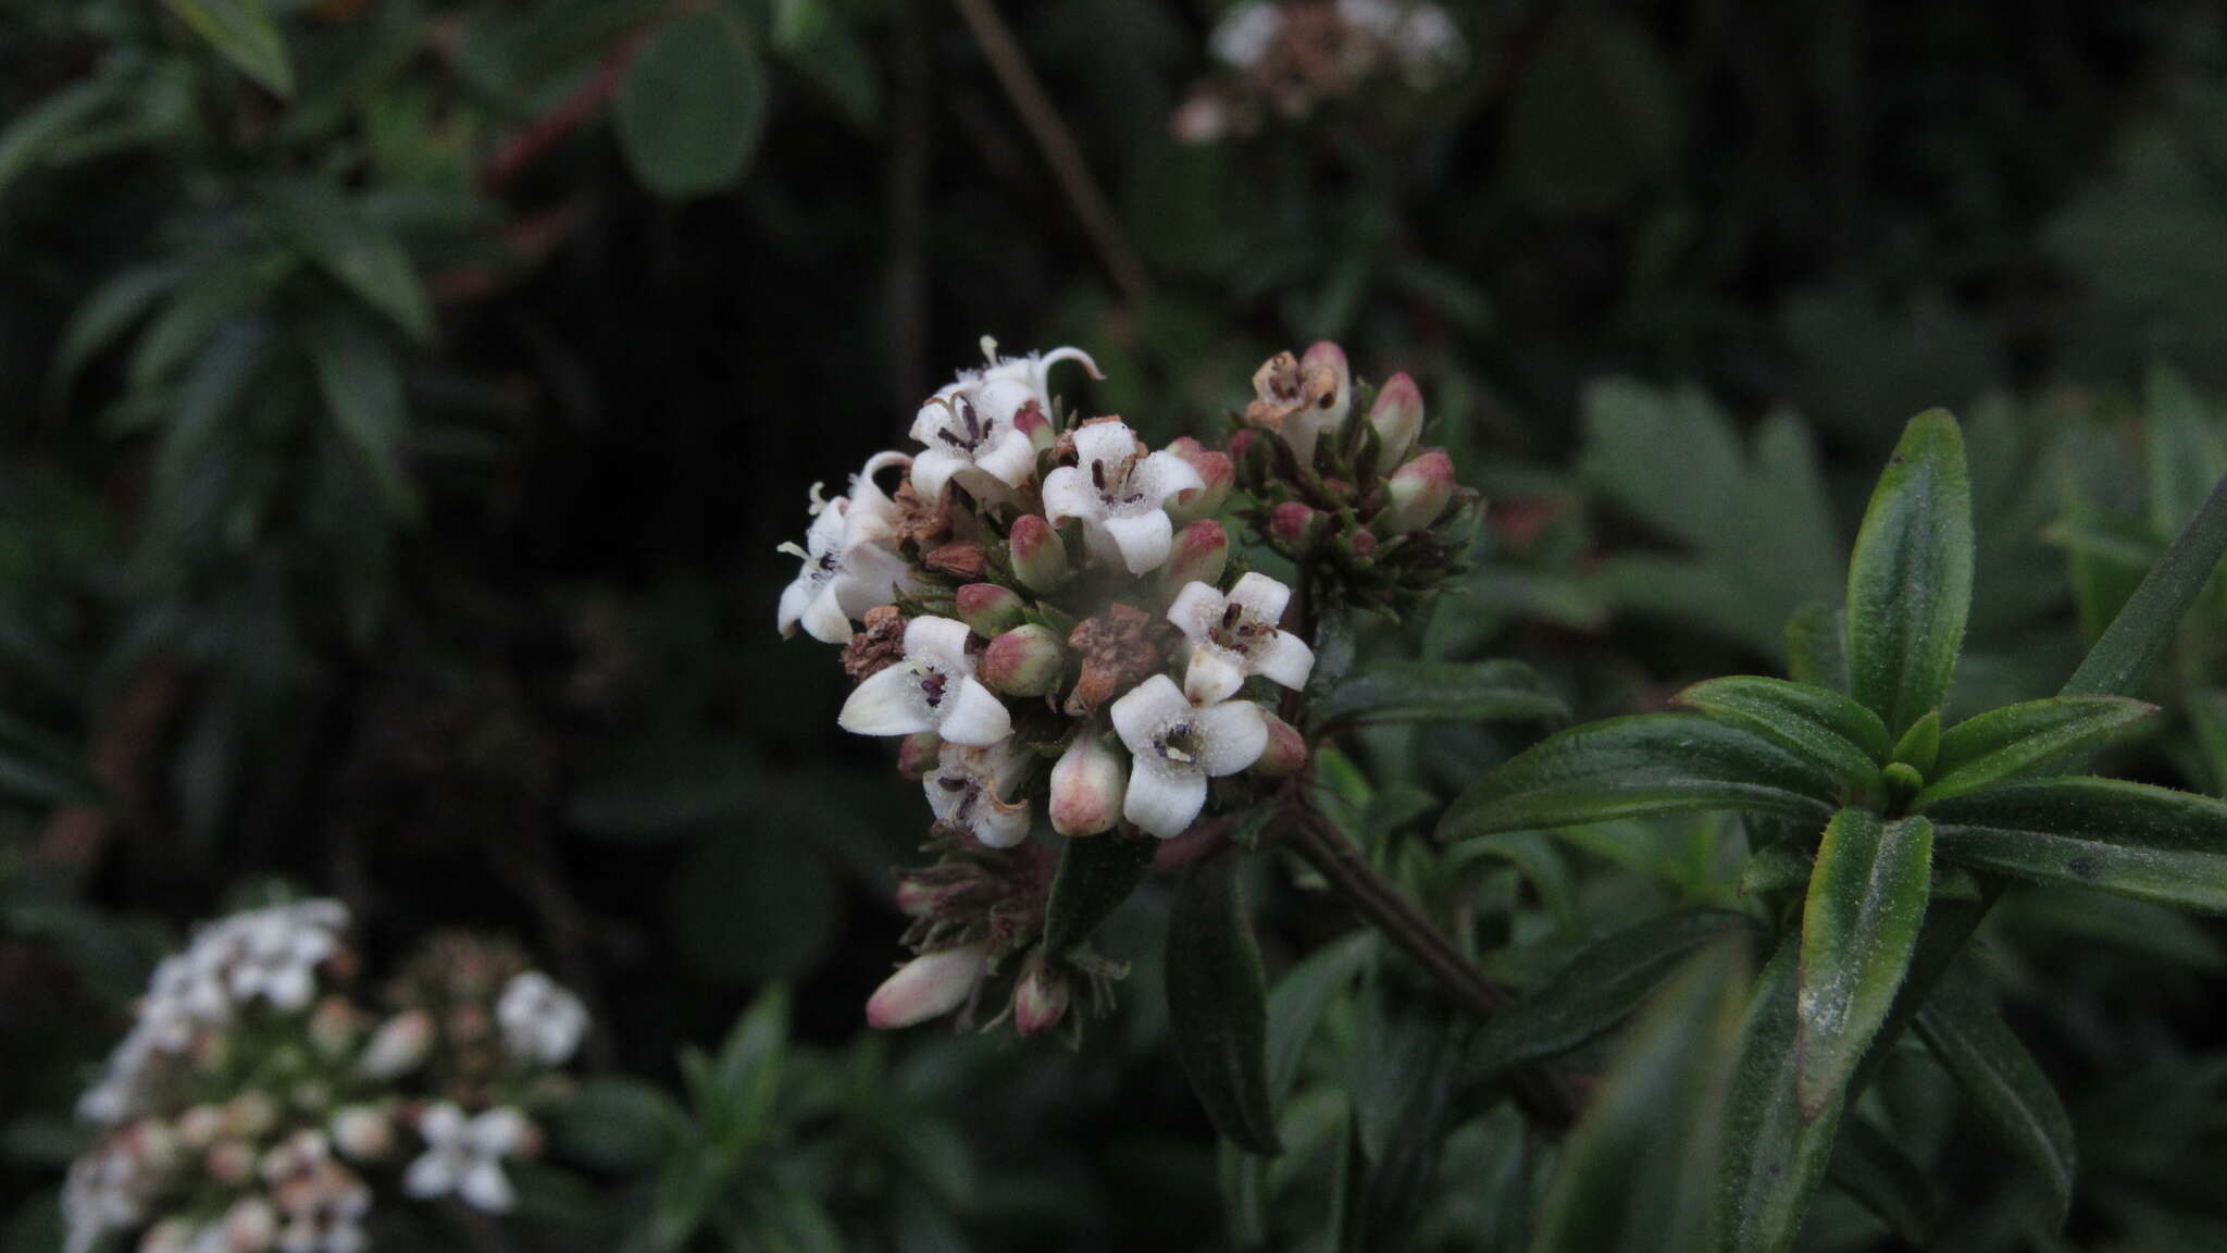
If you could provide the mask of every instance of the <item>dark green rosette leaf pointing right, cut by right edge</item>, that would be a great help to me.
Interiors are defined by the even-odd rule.
[[[2047,778],[1926,809],[1942,861],[2227,912],[2227,803],[2116,778]]]

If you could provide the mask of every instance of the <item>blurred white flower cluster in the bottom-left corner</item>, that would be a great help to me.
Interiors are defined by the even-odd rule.
[[[372,1012],[345,992],[345,930],[339,901],[272,905],[156,968],[78,1101],[100,1142],[65,1184],[69,1253],[134,1233],[140,1253],[359,1253],[387,1193],[514,1204],[503,1162],[568,1092],[586,1008],[506,945],[443,939]]]

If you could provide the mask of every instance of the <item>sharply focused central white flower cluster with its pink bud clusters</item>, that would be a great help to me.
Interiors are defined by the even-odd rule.
[[[869,1021],[958,1010],[1038,1035],[1073,1021],[1073,985],[1098,1006],[1120,970],[1087,945],[1044,950],[1049,841],[1131,841],[1138,858],[1171,841],[1158,854],[1174,861],[1198,843],[1178,836],[1305,767],[1285,718],[1314,649],[1292,586],[1247,569],[1218,517],[1240,479],[1258,544],[1372,609],[1452,569],[1445,515],[1463,511],[1443,453],[1405,459],[1414,381],[1363,408],[1336,346],[1263,366],[1229,450],[1151,448],[1120,417],[1067,412],[1053,366],[1098,377],[1076,348],[984,341],[984,357],[920,408],[922,450],[875,455],[835,499],[813,486],[777,624],[844,644],[857,687],[840,725],[895,738],[933,814],[938,861],[900,890],[920,956]]]

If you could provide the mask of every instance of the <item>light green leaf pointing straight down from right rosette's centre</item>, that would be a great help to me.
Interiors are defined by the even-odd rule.
[[[1933,823],[1882,823],[1842,809],[1817,845],[1802,907],[1797,1092],[1802,1115],[1837,1108],[1917,948],[1933,867]]]

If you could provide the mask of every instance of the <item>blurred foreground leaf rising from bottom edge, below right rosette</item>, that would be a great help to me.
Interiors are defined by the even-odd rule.
[[[1746,945],[1721,941],[1648,1006],[1563,1146],[1532,1253],[1706,1249],[1746,985]]]

